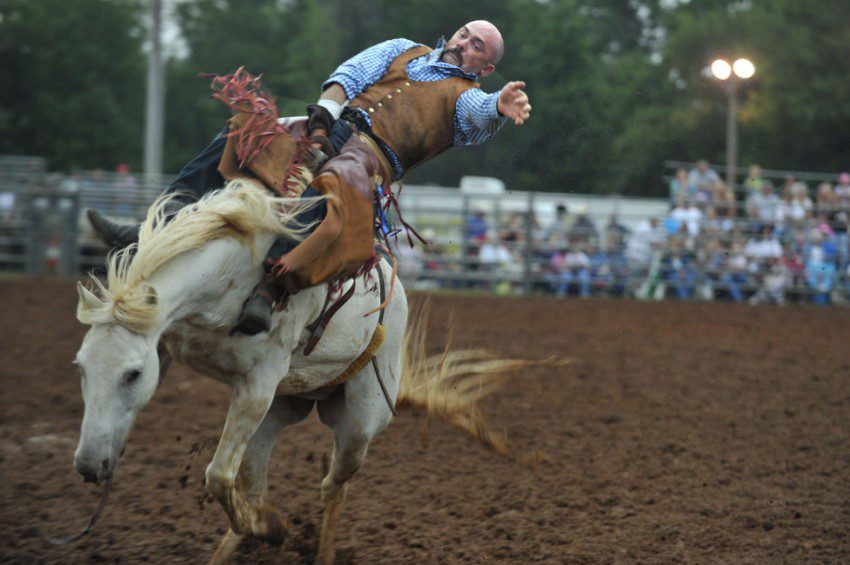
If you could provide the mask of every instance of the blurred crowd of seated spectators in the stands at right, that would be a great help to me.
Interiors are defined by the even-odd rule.
[[[535,290],[557,296],[827,305],[850,300],[848,216],[848,173],[812,194],[791,175],[776,187],[754,165],[736,193],[700,161],[676,172],[669,212],[633,230],[616,214],[597,225],[581,204],[558,206],[547,226],[518,213],[491,223],[477,209],[462,245],[424,248],[415,270],[433,286],[500,293],[530,275]]]

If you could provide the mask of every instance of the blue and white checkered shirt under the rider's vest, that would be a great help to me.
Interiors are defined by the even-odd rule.
[[[437,47],[407,64],[407,76],[418,82],[435,82],[451,77],[462,77],[477,81],[478,77],[464,72],[458,66],[440,61],[445,40],[440,39]],[[378,82],[387,73],[393,60],[419,43],[409,39],[390,39],[361,51],[341,64],[322,84],[322,90],[337,83],[345,90],[345,97],[352,100],[371,85]],[[499,93],[488,94],[480,88],[470,88],[460,95],[455,105],[454,144],[456,146],[478,145],[484,143],[499,131],[505,118],[499,115],[497,102]],[[360,110],[369,125],[369,114]],[[401,178],[403,169],[395,155],[390,155],[396,178]]]

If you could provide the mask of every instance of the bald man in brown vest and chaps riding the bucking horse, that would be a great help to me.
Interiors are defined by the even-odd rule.
[[[379,43],[331,74],[318,102],[307,107],[306,124],[314,146],[331,159],[303,194],[331,198],[301,218],[317,226],[303,241],[281,239],[272,246],[267,272],[234,331],[267,331],[275,305],[287,294],[350,277],[373,258],[378,187],[385,193],[405,172],[446,149],[483,143],[505,121],[521,125],[528,119],[525,83],[508,82],[491,94],[479,87],[503,52],[499,30],[479,20],[434,49],[409,39]],[[214,141],[173,187],[200,196],[221,186],[216,168],[223,145]],[[92,219],[105,240],[118,243],[119,227]]]

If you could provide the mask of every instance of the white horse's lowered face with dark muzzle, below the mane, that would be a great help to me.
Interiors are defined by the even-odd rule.
[[[112,476],[136,416],[156,390],[157,336],[118,323],[96,324],[74,363],[85,402],[74,467],[87,481],[100,483]]]

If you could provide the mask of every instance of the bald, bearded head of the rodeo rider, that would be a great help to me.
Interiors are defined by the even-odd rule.
[[[486,77],[502,58],[505,43],[496,26],[485,20],[469,22],[455,32],[443,49],[441,60],[464,71]]]

